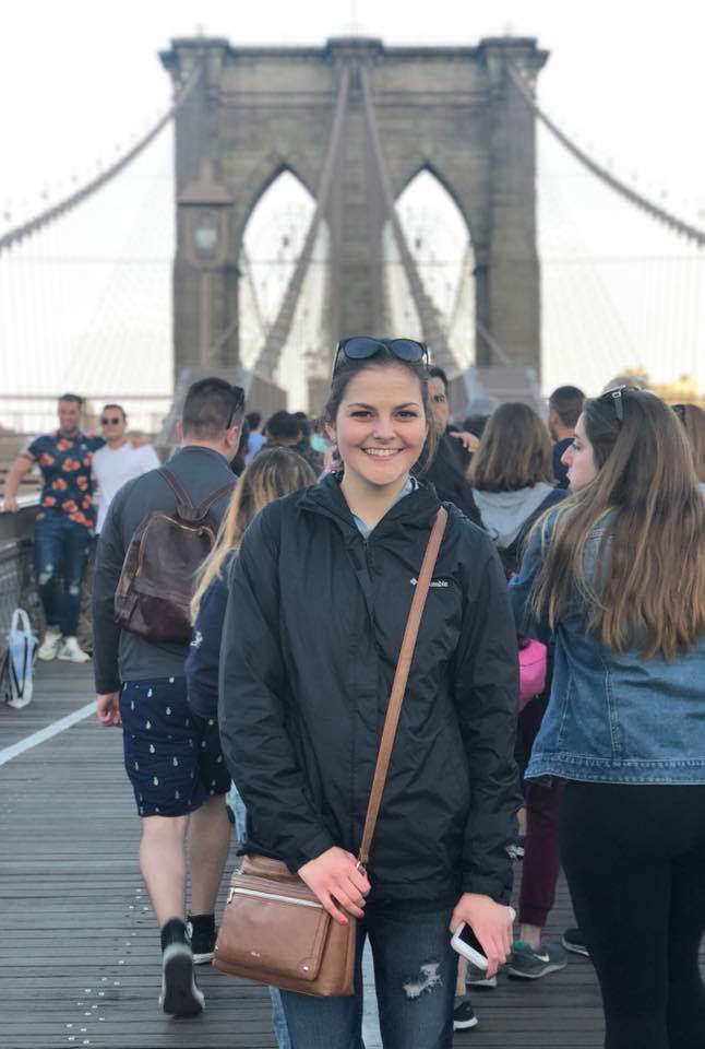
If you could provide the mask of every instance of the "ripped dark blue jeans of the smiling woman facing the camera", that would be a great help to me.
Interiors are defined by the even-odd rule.
[[[384,1049],[451,1049],[457,956],[452,907],[368,904],[358,922],[355,994],[311,998],[282,991],[292,1049],[365,1049],[362,948],[370,938]]]

